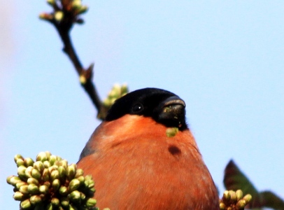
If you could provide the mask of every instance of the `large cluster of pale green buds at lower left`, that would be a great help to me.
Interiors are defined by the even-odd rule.
[[[21,209],[97,209],[92,176],[50,152],[41,152],[36,161],[15,155],[17,175],[8,176],[15,200]]]

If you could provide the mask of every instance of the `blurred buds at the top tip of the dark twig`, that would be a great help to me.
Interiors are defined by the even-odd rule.
[[[41,13],[39,18],[43,20],[61,22],[65,16],[68,16],[69,18],[72,17],[73,22],[83,23],[82,19],[76,17],[88,10],[87,6],[82,5],[81,0],[47,0],[47,3],[52,6],[54,13]]]

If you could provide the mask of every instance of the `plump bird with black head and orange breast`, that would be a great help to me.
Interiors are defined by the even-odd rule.
[[[117,99],[77,166],[92,175],[101,209],[219,209],[185,102],[166,90],[147,87]]]

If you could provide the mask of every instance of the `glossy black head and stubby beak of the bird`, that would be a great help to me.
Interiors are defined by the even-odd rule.
[[[178,127],[181,131],[187,129],[185,102],[166,90],[144,88],[130,92],[115,101],[105,120],[117,120],[127,114],[149,117],[166,127]]]

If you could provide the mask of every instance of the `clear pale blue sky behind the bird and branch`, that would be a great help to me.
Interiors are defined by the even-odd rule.
[[[187,104],[187,123],[216,184],[230,159],[258,190],[284,198],[283,1],[83,1],[72,31],[101,98],[114,83],[159,87]],[[96,110],[38,20],[45,1],[1,2],[0,206],[18,209],[13,157],[50,151],[77,162]]]

